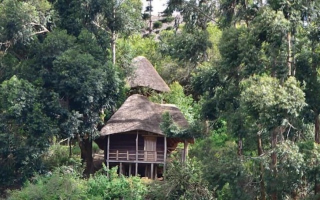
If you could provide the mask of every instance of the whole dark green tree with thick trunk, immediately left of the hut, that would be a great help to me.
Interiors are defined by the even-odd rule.
[[[81,157],[86,161],[85,172],[91,173],[92,141],[98,135],[98,125],[103,122],[100,114],[115,104],[121,81],[86,30],[79,34],[71,48],[55,58],[49,74],[51,78],[45,79],[46,84],[59,94],[68,115],[81,121],[73,134],[77,136]]]

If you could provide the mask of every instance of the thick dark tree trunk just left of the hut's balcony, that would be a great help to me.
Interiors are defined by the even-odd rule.
[[[86,164],[84,174],[89,175],[93,173],[92,140],[89,138],[79,140],[79,147],[81,150],[81,159]]]

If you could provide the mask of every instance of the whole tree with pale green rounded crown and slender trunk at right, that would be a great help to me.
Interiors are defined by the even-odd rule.
[[[243,80],[241,84],[243,89],[240,107],[246,113],[246,123],[250,124],[256,132],[265,131],[270,135],[272,151],[270,169],[273,173],[272,177],[276,179],[278,177],[276,154],[278,137],[283,140],[283,133],[288,134],[290,129],[294,128],[292,123],[297,120],[299,112],[306,105],[304,93],[293,77],[289,77],[281,84],[273,77],[253,76]],[[258,146],[258,151],[261,151],[260,148]],[[279,194],[275,182],[271,183],[271,187],[271,199],[277,199]]]

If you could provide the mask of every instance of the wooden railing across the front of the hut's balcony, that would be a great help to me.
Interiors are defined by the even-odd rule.
[[[109,149],[110,160],[164,161],[164,151]]]

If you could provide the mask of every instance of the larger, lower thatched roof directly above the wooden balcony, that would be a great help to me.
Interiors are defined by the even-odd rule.
[[[180,127],[188,126],[187,120],[175,105],[153,103],[142,95],[133,94],[106,122],[100,135],[132,130],[144,130],[163,135],[159,125],[165,111],[170,113],[173,121]]]

